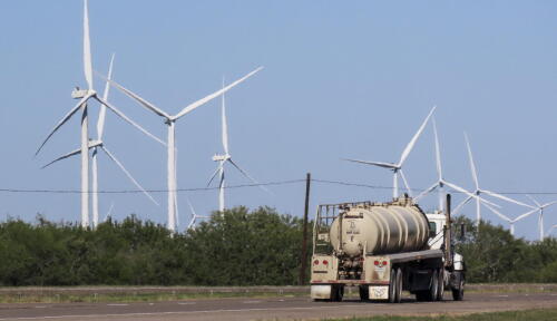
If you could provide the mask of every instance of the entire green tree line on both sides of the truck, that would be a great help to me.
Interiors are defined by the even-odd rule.
[[[456,221],[468,230],[456,244],[467,282],[557,282],[555,239],[528,242],[489,223],[478,233],[470,220]],[[0,285],[294,285],[302,230],[301,218],[270,207],[213,213],[174,235],[134,215],[96,230],[9,220],[0,224]]]

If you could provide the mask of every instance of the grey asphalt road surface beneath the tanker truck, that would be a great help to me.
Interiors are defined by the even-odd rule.
[[[400,304],[312,302],[309,298],[212,299],[141,303],[18,303],[0,304],[0,320],[281,320],[324,319],[352,315],[418,315],[473,313],[536,308],[557,308],[557,293],[466,293],[455,302]]]

